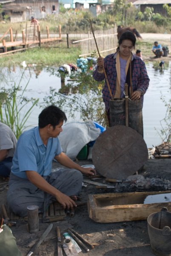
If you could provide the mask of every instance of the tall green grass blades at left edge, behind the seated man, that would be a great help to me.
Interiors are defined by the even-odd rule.
[[[24,96],[31,76],[28,79],[26,86],[22,88],[20,87],[20,83],[23,78],[23,74],[18,86],[16,86],[16,83],[14,82],[14,86],[12,88],[1,88],[0,92],[0,95],[3,96],[1,98],[2,100],[0,101],[0,120],[1,122],[9,125],[17,139],[27,127],[26,121],[30,116],[32,109],[35,105],[37,105],[38,102],[38,99],[28,99],[26,96]],[[20,91],[21,94],[19,95]],[[28,103],[31,103],[31,107],[28,106]]]

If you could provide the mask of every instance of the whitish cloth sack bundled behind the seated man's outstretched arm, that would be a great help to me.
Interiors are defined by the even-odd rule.
[[[96,128],[93,121],[71,121],[63,125],[63,131],[58,138],[63,152],[74,160],[80,150],[99,135],[100,129]]]

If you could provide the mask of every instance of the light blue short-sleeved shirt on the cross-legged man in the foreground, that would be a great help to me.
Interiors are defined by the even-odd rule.
[[[25,171],[48,176],[51,173],[52,160],[61,152],[58,138],[49,138],[47,145],[44,145],[39,128],[32,128],[23,132],[18,139],[11,172],[23,179],[27,179]]]

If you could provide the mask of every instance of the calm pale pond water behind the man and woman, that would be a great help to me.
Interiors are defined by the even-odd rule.
[[[165,65],[163,70],[154,68],[153,65],[154,63],[152,62],[146,64],[150,85],[145,93],[143,105],[144,140],[148,148],[152,147],[152,145],[159,145],[162,142],[157,131],[160,132],[161,130],[160,121],[165,117],[166,106],[160,98],[165,96],[167,102],[171,98],[171,62]],[[17,85],[23,71],[24,68],[21,67],[14,67],[10,70],[8,68],[1,69],[0,88],[11,87],[11,85],[14,85],[14,81]],[[59,90],[61,87],[59,77],[49,72],[46,67],[38,68],[36,66],[30,69],[26,67],[21,81],[23,87],[26,85],[30,73],[31,79],[26,90],[28,97],[40,98],[40,102],[42,102],[44,96],[48,96],[50,87],[56,90]],[[37,125],[40,112],[40,106],[35,107],[28,119],[27,125]],[[79,118],[79,114],[77,114],[76,118]],[[164,122],[162,124],[165,125]]]

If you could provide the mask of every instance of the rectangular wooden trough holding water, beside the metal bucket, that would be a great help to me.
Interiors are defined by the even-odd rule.
[[[162,197],[163,200],[158,201],[164,202],[144,204],[147,196]],[[171,201],[165,198],[171,199],[171,191],[88,195],[88,214],[92,220],[102,223],[145,220],[151,213],[160,212],[162,207],[171,211]]]

